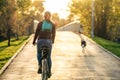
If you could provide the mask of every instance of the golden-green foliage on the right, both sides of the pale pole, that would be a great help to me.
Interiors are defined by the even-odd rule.
[[[120,39],[120,0],[95,0],[94,32],[105,39]],[[71,14],[77,16],[86,35],[91,34],[92,0],[72,0]]]

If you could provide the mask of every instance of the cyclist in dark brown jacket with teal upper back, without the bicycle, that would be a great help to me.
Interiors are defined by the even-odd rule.
[[[35,42],[37,40],[37,59],[38,59],[38,73],[41,74],[42,70],[42,62],[41,62],[41,52],[40,48],[44,45],[48,46],[50,48],[49,54],[48,54],[48,66],[49,66],[49,72],[51,76],[51,51],[52,51],[52,43],[54,43],[55,39],[55,24],[51,21],[51,13],[49,11],[46,11],[44,14],[44,20],[38,23],[35,36],[33,39],[33,45],[35,45]],[[49,77],[50,77],[49,76]]]

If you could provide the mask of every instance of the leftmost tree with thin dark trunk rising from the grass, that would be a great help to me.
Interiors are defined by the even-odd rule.
[[[1,17],[3,19],[2,24],[3,27],[5,27],[5,34],[8,39],[8,46],[10,46],[10,38],[11,38],[11,33],[12,33],[12,26],[14,24],[13,15],[16,11],[15,8],[15,0],[6,0],[5,6],[2,8],[2,14]]]

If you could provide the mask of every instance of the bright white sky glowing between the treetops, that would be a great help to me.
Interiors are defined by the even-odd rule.
[[[60,18],[67,18],[67,16],[69,15],[69,2],[70,0],[45,0],[45,11],[57,13]]]

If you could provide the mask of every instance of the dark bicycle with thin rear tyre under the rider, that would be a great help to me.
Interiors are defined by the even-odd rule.
[[[42,46],[41,48],[41,53],[42,53],[42,80],[48,80],[50,72],[49,72],[49,67],[48,67],[48,51],[49,47],[48,46]]]

